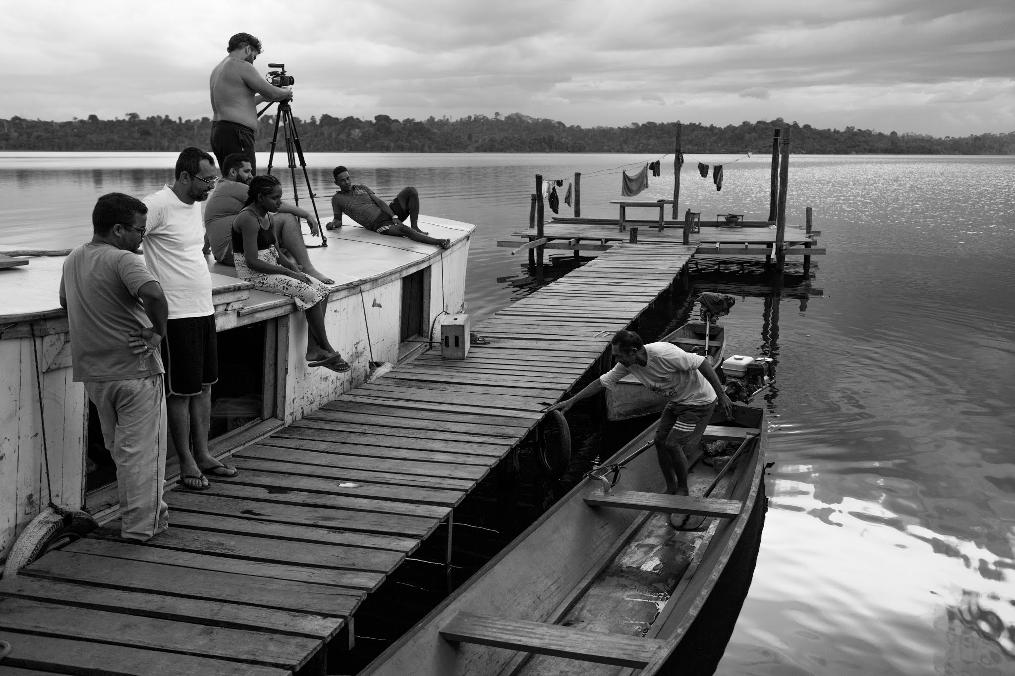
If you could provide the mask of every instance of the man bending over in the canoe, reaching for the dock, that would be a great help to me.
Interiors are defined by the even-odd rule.
[[[642,385],[669,399],[656,428],[656,453],[666,480],[666,493],[688,495],[684,448],[693,448],[701,441],[717,400],[726,418],[730,418],[733,411],[730,397],[716,371],[700,355],[691,355],[670,343],[645,345],[637,333],[626,330],[617,331],[610,347],[617,364],[581,392],[548,410],[566,412],[582,399],[598,394],[604,387],[612,388],[627,374],[633,375]],[[676,528],[689,527],[688,521],[693,519],[683,514],[670,517]]]

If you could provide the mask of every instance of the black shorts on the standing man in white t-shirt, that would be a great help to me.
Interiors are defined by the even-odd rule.
[[[165,393],[193,396],[218,380],[218,339],[215,315],[183,317],[165,322],[162,339]]]

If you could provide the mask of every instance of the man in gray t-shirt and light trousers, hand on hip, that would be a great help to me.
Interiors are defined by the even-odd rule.
[[[165,394],[158,345],[168,304],[137,248],[147,207],[121,193],[98,199],[91,241],[67,256],[60,305],[67,308],[75,381],[95,404],[117,466],[121,535],[146,540],[168,527]]]

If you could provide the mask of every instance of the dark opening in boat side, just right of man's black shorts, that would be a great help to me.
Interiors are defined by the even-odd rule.
[[[261,420],[264,344],[263,321],[218,333],[218,382],[211,386],[209,439]]]

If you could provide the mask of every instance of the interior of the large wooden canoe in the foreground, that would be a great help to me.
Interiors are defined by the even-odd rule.
[[[699,530],[677,531],[665,515],[612,507],[590,507],[600,490],[585,479],[477,575],[371,663],[362,674],[620,674],[629,668],[546,657],[472,643],[451,643],[441,628],[461,613],[529,620],[665,642],[665,656],[678,654],[682,636],[705,607],[716,580],[746,528],[757,501],[764,455],[764,414],[738,406],[735,421],[712,427],[705,441],[730,428],[761,430],[713,494],[744,503],[733,519],[705,519]],[[638,435],[608,463],[625,458],[655,434]],[[745,434],[739,432],[743,441]],[[691,494],[701,495],[722,462],[692,455]],[[662,493],[654,450],[626,464],[617,491]],[[658,560],[657,560],[658,559]],[[665,660],[642,673],[657,673]]]

